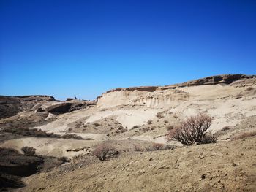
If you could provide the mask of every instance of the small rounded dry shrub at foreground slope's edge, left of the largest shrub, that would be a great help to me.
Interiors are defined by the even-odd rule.
[[[109,143],[102,143],[98,145],[92,152],[93,155],[97,156],[100,161],[105,161],[107,158],[118,155],[118,150],[116,150]]]

